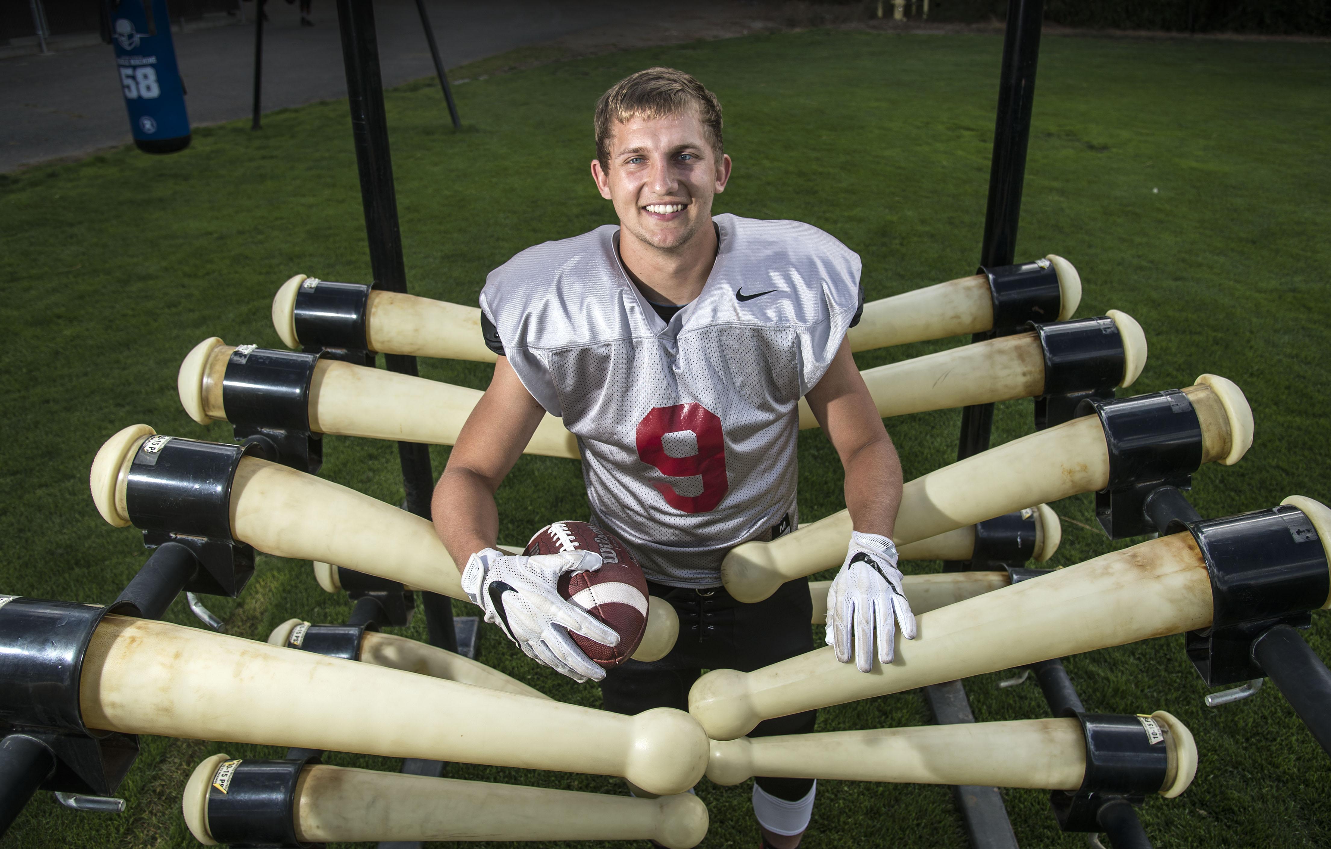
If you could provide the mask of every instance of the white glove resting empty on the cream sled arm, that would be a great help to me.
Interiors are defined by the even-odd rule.
[[[897,623],[901,633],[913,640],[914,613],[901,588],[897,547],[886,536],[851,532],[851,550],[841,571],[828,590],[827,643],[841,663],[851,663],[860,672],[873,669],[873,631],[878,631],[878,660],[892,663],[896,656]]]

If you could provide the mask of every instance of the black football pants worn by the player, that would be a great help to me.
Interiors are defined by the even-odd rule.
[[[781,584],[771,597],[744,604],[723,587],[687,590],[647,582],[651,595],[669,601],[679,613],[679,640],[660,660],[628,660],[608,669],[600,683],[607,711],[642,713],[651,708],[688,711],[688,688],[703,669],[752,672],[813,649],[809,620],[813,600],[804,578]],[[764,720],[749,737],[807,735],[817,711]],[[812,778],[755,778],[757,785],[787,801],[808,796]]]

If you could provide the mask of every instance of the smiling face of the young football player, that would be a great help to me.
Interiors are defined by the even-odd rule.
[[[615,204],[620,238],[685,250],[712,224],[712,198],[725,190],[731,157],[717,157],[696,109],[612,126],[608,169],[592,160],[591,173],[600,196]]]

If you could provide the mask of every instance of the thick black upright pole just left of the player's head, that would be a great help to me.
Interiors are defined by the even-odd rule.
[[[261,0],[256,0],[261,1]],[[370,0],[337,0],[338,29],[342,36],[342,63],[346,68],[347,102],[351,108],[351,137],[355,164],[361,176],[361,205],[365,210],[365,233],[370,246],[370,271],[374,283],[385,291],[407,290],[406,265],[402,259],[402,230],[398,226],[398,198],[393,188],[393,154],[389,150],[389,121],[383,109],[383,83],[379,76],[379,47],[374,32],[374,7]],[[415,377],[415,357],[385,354],[390,371]],[[434,472],[430,448],[415,442],[398,443],[402,463],[402,488],[406,510],[430,518]],[[435,616],[453,612],[431,609]]]

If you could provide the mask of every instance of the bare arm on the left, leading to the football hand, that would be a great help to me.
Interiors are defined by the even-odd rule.
[[[490,387],[462,426],[449,464],[434,488],[434,530],[458,571],[473,554],[498,543],[495,490],[522,456],[544,415],[508,359],[500,357]]]

